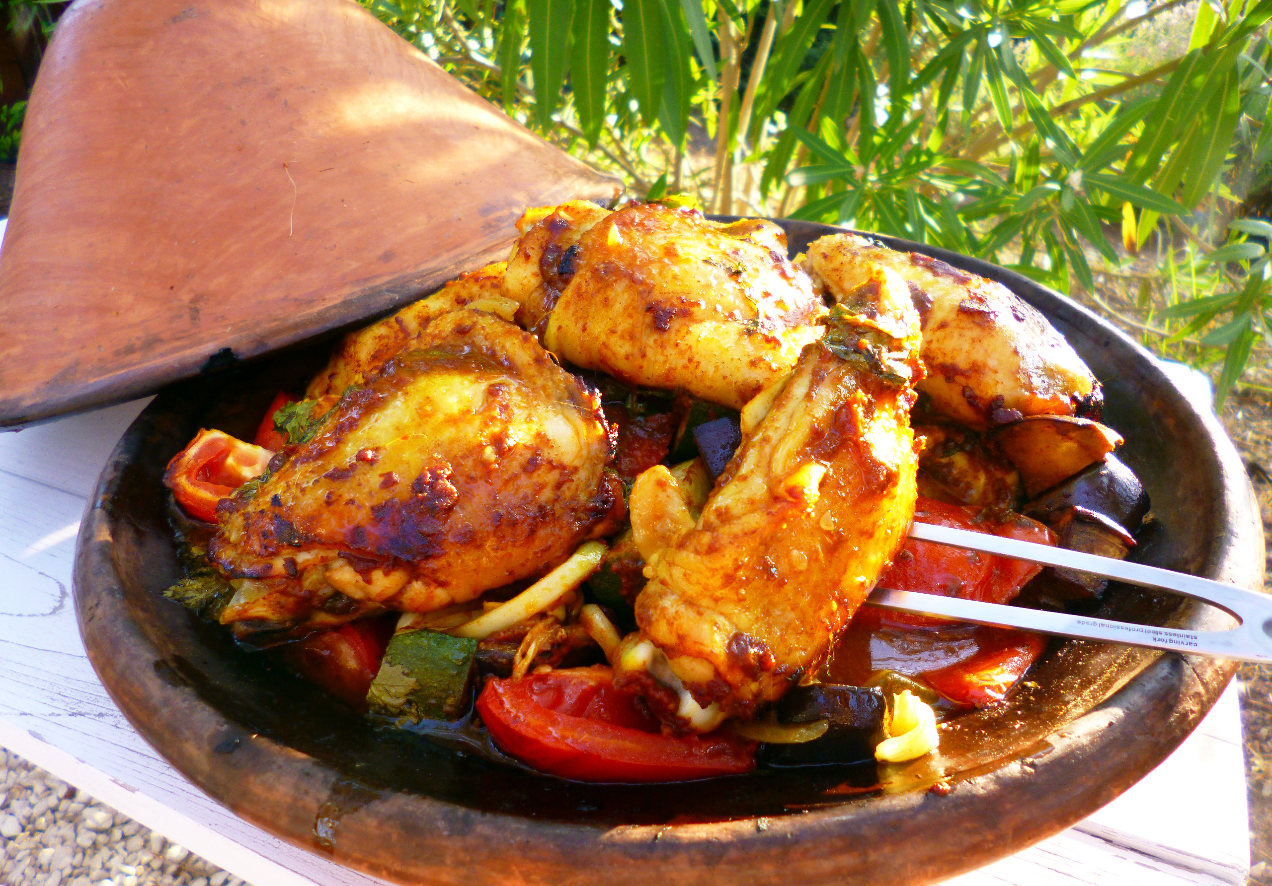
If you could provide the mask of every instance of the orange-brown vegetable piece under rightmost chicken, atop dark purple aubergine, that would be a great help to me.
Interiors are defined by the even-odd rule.
[[[1030,416],[990,439],[1020,470],[1025,492],[1040,492],[1072,477],[1122,445],[1122,435],[1088,418]]]

